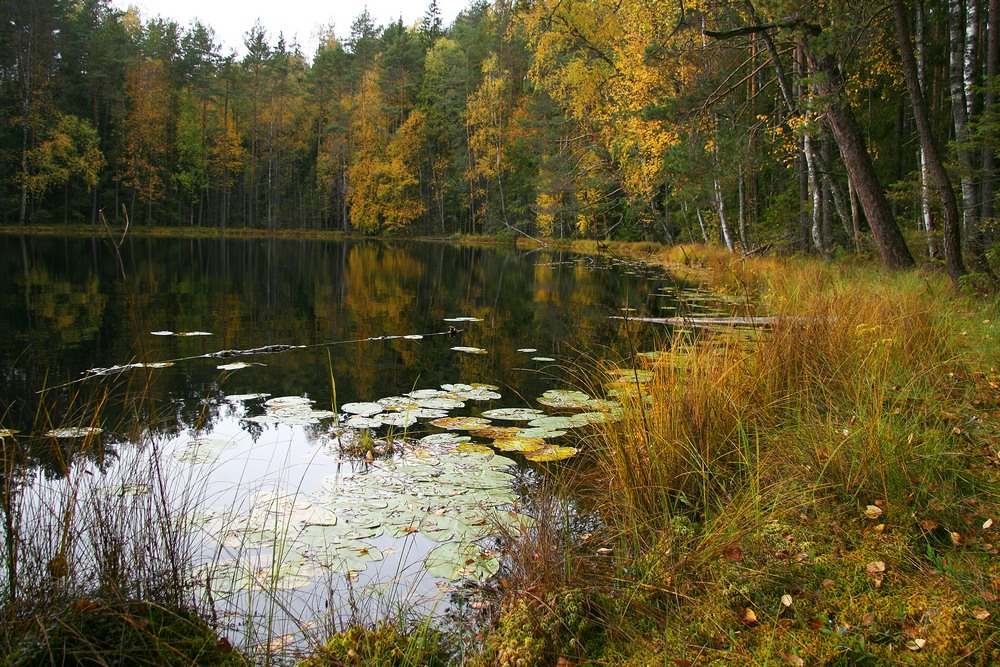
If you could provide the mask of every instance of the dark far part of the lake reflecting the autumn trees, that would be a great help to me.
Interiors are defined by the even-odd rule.
[[[17,426],[26,415],[16,404],[30,407],[19,398],[88,369],[275,344],[308,347],[239,357],[262,365],[238,372],[217,370],[231,358],[147,371],[153,395],[182,416],[251,392],[308,395],[329,406],[332,362],[338,403],[485,382],[501,387],[503,405],[525,405],[581,357],[627,356],[630,345],[662,334],[640,330],[629,343],[624,325],[609,319],[621,308],[644,316],[676,309],[658,293],[673,283],[656,271],[545,250],[129,237],[116,251],[106,238],[5,236],[0,258],[3,401]],[[456,317],[482,321],[445,321]],[[449,326],[462,331],[344,342]],[[211,335],[151,335],[164,330]],[[537,352],[517,351],[525,348]],[[556,362],[532,361],[538,356]]]

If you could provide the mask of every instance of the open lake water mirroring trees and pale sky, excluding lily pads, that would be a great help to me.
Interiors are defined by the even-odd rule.
[[[55,477],[71,467],[76,441],[37,435],[49,428],[103,427],[97,446],[87,448],[95,460],[134,443],[155,443],[166,455],[177,504],[206,513],[199,524],[206,537],[205,562],[236,559],[251,579],[299,581],[294,577],[301,569],[282,568],[289,558],[301,567],[299,560],[309,557],[289,546],[292,542],[280,532],[255,527],[255,539],[261,540],[247,540],[245,531],[230,539],[251,521],[255,503],[281,498],[288,507],[318,507],[330,501],[330,494],[345,493],[346,487],[331,491],[331,475],[370,475],[384,491],[406,486],[383,474],[387,466],[414,468],[419,482],[380,496],[391,511],[378,522],[370,519],[375,509],[366,512],[367,522],[357,513],[331,510],[340,512],[341,528],[368,527],[369,546],[359,551],[378,551],[382,559],[377,563],[346,572],[314,568],[302,577],[305,583],[281,594],[294,601],[280,604],[239,587],[213,594],[238,614],[256,609],[278,618],[273,614],[281,609],[284,615],[276,622],[290,629],[322,615],[331,599],[335,609],[357,613],[359,590],[368,595],[387,591],[396,601],[410,599],[411,593],[428,604],[441,599],[440,579],[422,569],[440,542],[421,530],[423,524],[412,534],[405,528],[372,533],[369,524],[391,528],[406,512],[433,514],[439,523],[447,519],[466,528],[482,519],[456,514],[459,503],[445,498],[463,491],[449,489],[443,478],[463,474],[464,469],[447,468],[463,456],[483,457],[475,466],[484,469],[492,454],[427,454],[417,445],[391,460],[352,460],[331,445],[339,435],[337,424],[346,418],[331,416],[340,406],[442,385],[487,383],[500,398],[470,400],[450,414],[537,408],[543,392],[567,385],[567,374],[580,379],[580,359],[628,357],[663,335],[656,327],[637,328],[611,315],[628,307],[640,316],[663,317],[677,308],[673,297],[664,297],[676,295],[677,286],[657,272],[561,251],[137,237],[125,238],[120,246],[99,238],[2,237],[0,247],[0,311],[8,323],[0,329],[0,427],[19,429],[18,442],[32,452],[25,461]],[[449,322],[459,317],[469,319]],[[450,326],[457,330],[454,335]],[[210,335],[159,335],[164,332]],[[275,345],[282,346],[280,351],[261,349]],[[230,352],[217,354],[224,350]],[[254,353],[232,352],[240,350]],[[539,360],[545,358],[555,361]],[[164,361],[174,363],[150,367]],[[219,368],[235,361],[247,365]],[[80,381],[88,370],[128,364],[143,366]],[[233,396],[257,394],[307,397],[311,409],[327,413],[302,423],[253,421],[248,418],[266,416],[266,397]],[[405,431],[412,440],[439,430],[421,419],[395,433]],[[385,437],[386,429],[376,435]],[[217,455],[185,458],[193,439],[211,439]],[[411,463],[407,456],[425,459]],[[509,516],[516,521],[518,502],[511,489],[534,473],[523,457],[514,456],[521,467],[504,467],[510,477],[505,489],[497,490],[493,482],[465,486],[486,494],[488,502],[480,505],[513,511]],[[447,476],[425,466],[426,457],[445,461]],[[421,486],[425,482],[429,486]],[[436,495],[442,488],[445,495]],[[367,502],[359,498],[351,500]],[[268,507],[260,510],[265,518],[300,532],[315,525]],[[479,539],[483,535],[470,532],[477,544],[470,560],[482,556],[485,563],[491,557],[488,543]],[[244,581],[247,572],[239,575]],[[394,585],[387,589],[386,581]],[[268,630],[272,635],[282,631]]]

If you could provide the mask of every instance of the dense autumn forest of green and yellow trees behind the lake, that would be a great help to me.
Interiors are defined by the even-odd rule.
[[[3,0],[0,207],[93,223],[781,242],[989,271],[998,0],[497,0],[266,26]]]

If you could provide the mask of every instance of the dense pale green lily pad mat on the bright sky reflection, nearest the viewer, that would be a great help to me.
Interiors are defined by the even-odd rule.
[[[204,565],[195,573],[214,593],[252,587],[299,588],[318,576],[349,574],[385,557],[373,542],[419,533],[438,544],[424,565],[443,579],[484,580],[500,567],[482,546],[499,531],[523,531],[530,517],[513,510],[511,459],[463,447],[438,434],[399,448],[390,460],[329,475],[311,495],[266,489],[244,512],[206,511],[199,525],[220,546],[245,556]]]

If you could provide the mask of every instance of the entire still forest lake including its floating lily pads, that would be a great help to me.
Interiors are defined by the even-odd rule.
[[[658,270],[548,249],[5,236],[0,262],[0,428],[52,478],[72,469],[59,428],[123,461],[155,449],[203,540],[196,579],[226,579],[212,603],[247,636],[266,617],[269,642],[359,598],[433,607],[489,578],[491,529],[530,530],[519,493],[613,413],[545,392],[596,394],[595,359],[665,336],[612,316],[711,307]],[[567,413],[590,421],[545,419]]]

